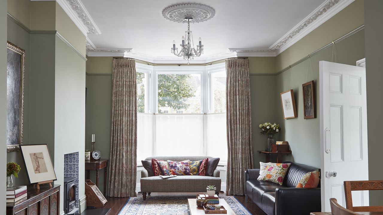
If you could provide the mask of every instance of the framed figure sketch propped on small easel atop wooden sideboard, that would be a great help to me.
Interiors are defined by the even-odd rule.
[[[57,180],[46,144],[21,145],[20,150],[29,183]]]

